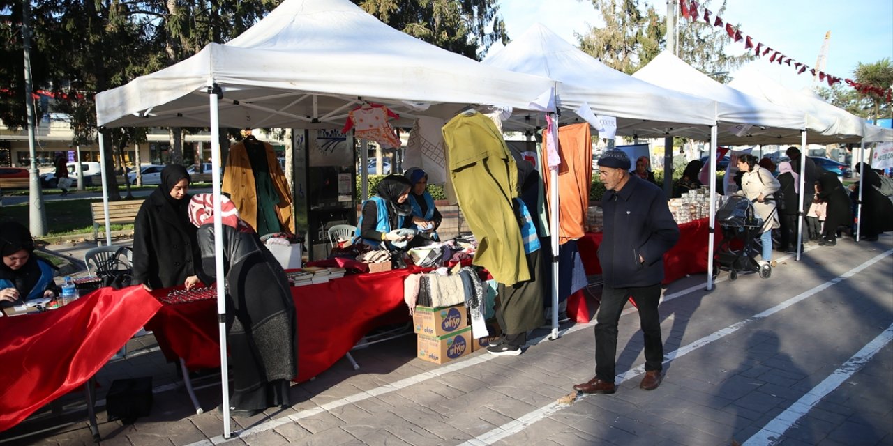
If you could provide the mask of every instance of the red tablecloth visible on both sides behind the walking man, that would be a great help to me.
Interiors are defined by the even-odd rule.
[[[688,274],[707,272],[707,258],[710,255],[710,219],[697,219],[679,226],[679,242],[663,254],[663,284],[669,284]],[[722,235],[716,234],[714,245],[719,244]],[[587,275],[601,274],[598,263],[598,245],[602,243],[602,233],[588,232],[577,241],[580,258]],[[568,314],[577,322],[589,321],[589,310],[582,292],[573,294],[568,300]]]

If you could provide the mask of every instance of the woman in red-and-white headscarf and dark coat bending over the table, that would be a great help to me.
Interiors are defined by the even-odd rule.
[[[216,280],[213,199],[213,194],[196,194],[189,202],[206,283]],[[236,205],[222,195],[221,219],[227,343],[233,367],[230,411],[253,417],[263,409],[291,406],[289,382],[297,375],[295,301],[279,261],[239,218]]]

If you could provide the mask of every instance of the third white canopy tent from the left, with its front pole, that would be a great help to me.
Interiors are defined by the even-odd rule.
[[[717,126],[710,144],[710,178],[716,174],[716,150],[719,143],[726,145],[779,144],[797,142],[806,128],[803,111],[781,107],[755,96],[746,95],[720,84],[670,52],[664,51],[632,75],[657,86],[701,95],[716,100],[716,120],[728,124],[747,124],[749,127]],[[716,182],[710,184],[710,235],[708,237],[707,289],[713,289],[714,229],[716,226]]]

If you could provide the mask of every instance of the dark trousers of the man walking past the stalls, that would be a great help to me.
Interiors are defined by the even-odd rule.
[[[657,314],[661,284],[629,288],[603,286],[596,318],[596,377],[608,383],[614,382],[617,324],[628,297],[636,302],[638,320],[645,334],[645,371],[663,370],[661,320]]]

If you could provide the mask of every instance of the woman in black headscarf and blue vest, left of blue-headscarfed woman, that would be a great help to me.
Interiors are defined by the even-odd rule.
[[[362,242],[388,250],[396,249],[394,242],[411,240],[415,232],[406,229],[411,219],[409,193],[412,185],[402,175],[388,175],[381,180],[378,194],[363,202],[363,212],[356,227],[355,243]]]

